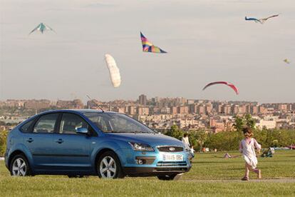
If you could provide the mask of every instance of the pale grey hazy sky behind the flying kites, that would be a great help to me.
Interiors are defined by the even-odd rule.
[[[295,102],[294,10],[294,0],[0,0],[0,100]],[[272,14],[281,15],[244,21]],[[56,34],[29,36],[41,22]],[[140,31],[168,53],[144,53]],[[119,88],[105,54],[118,64]],[[222,85],[202,91],[212,81],[239,95]]]

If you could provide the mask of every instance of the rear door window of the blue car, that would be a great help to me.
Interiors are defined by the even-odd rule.
[[[58,113],[49,113],[41,116],[36,122],[33,133],[53,133]]]

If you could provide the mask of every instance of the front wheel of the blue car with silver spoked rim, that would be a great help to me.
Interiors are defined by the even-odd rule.
[[[124,178],[120,160],[112,151],[107,151],[98,158],[96,171],[100,178]]]

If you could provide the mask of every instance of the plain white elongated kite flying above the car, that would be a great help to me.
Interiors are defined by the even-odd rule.
[[[105,54],[105,62],[108,66],[108,71],[110,72],[110,81],[112,81],[113,86],[117,88],[121,84],[121,76],[120,70],[118,69],[117,64],[115,64],[115,59],[113,59],[110,54]]]

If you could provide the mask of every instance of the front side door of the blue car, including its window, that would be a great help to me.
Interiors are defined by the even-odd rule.
[[[58,131],[53,134],[56,168],[62,171],[90,170],[90,143],[92,136],[77,133],[78,128],[88,128],[88,123],[78,114],[63,113]]]

